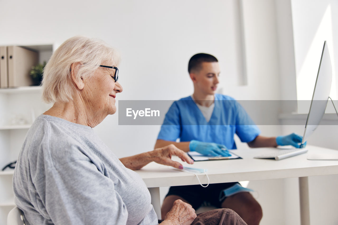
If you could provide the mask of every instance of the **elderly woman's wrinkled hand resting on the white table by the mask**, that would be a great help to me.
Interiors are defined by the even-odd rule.
[[[153,151],[150,151],[150,157],[152,158],[152,161],[172,166],[177,169],[183,169],[183,165],[179,162],[172,161],[171,156],[178,156],[183,162],[187,162],[189,164],[193,164],[194,161],[188,156],[187,153],[184,151],[178,149],[175,145],[170,144],[168,146],[162,147],[162,148],[156,148]]]

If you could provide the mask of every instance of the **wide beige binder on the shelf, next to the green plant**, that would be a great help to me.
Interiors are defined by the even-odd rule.
[[[8,87],[29,86],[32,84],[29,72],[39,62],[39,53],[19,47],[7,47]]]

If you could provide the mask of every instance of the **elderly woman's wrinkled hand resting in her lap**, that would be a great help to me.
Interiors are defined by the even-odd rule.
[[[164,217],[161,225],[190,225],[196,217],[195,209],[190,204],[178,199],[174,201],[172,208]]]

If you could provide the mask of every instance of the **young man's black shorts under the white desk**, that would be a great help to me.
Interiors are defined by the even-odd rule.
[[[225,200],[222,190],[230,188],[235,184],[238,184],[238,182],[209,184],[206,188],[200,185],[175,186],[170,187],[166,197],[168,195],[178,195],[187,200],[195,210],[202,204],[221,208],[221,204]]]

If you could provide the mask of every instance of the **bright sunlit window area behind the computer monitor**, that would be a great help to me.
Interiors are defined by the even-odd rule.
[[[333,67],[330,96],[337,99],[338,2],[336,0],[293,0],[291,2],[297,99],[311,100],[312,98],[324,40],[327,41]],[[298,107],[299,112],[300,110]]]

